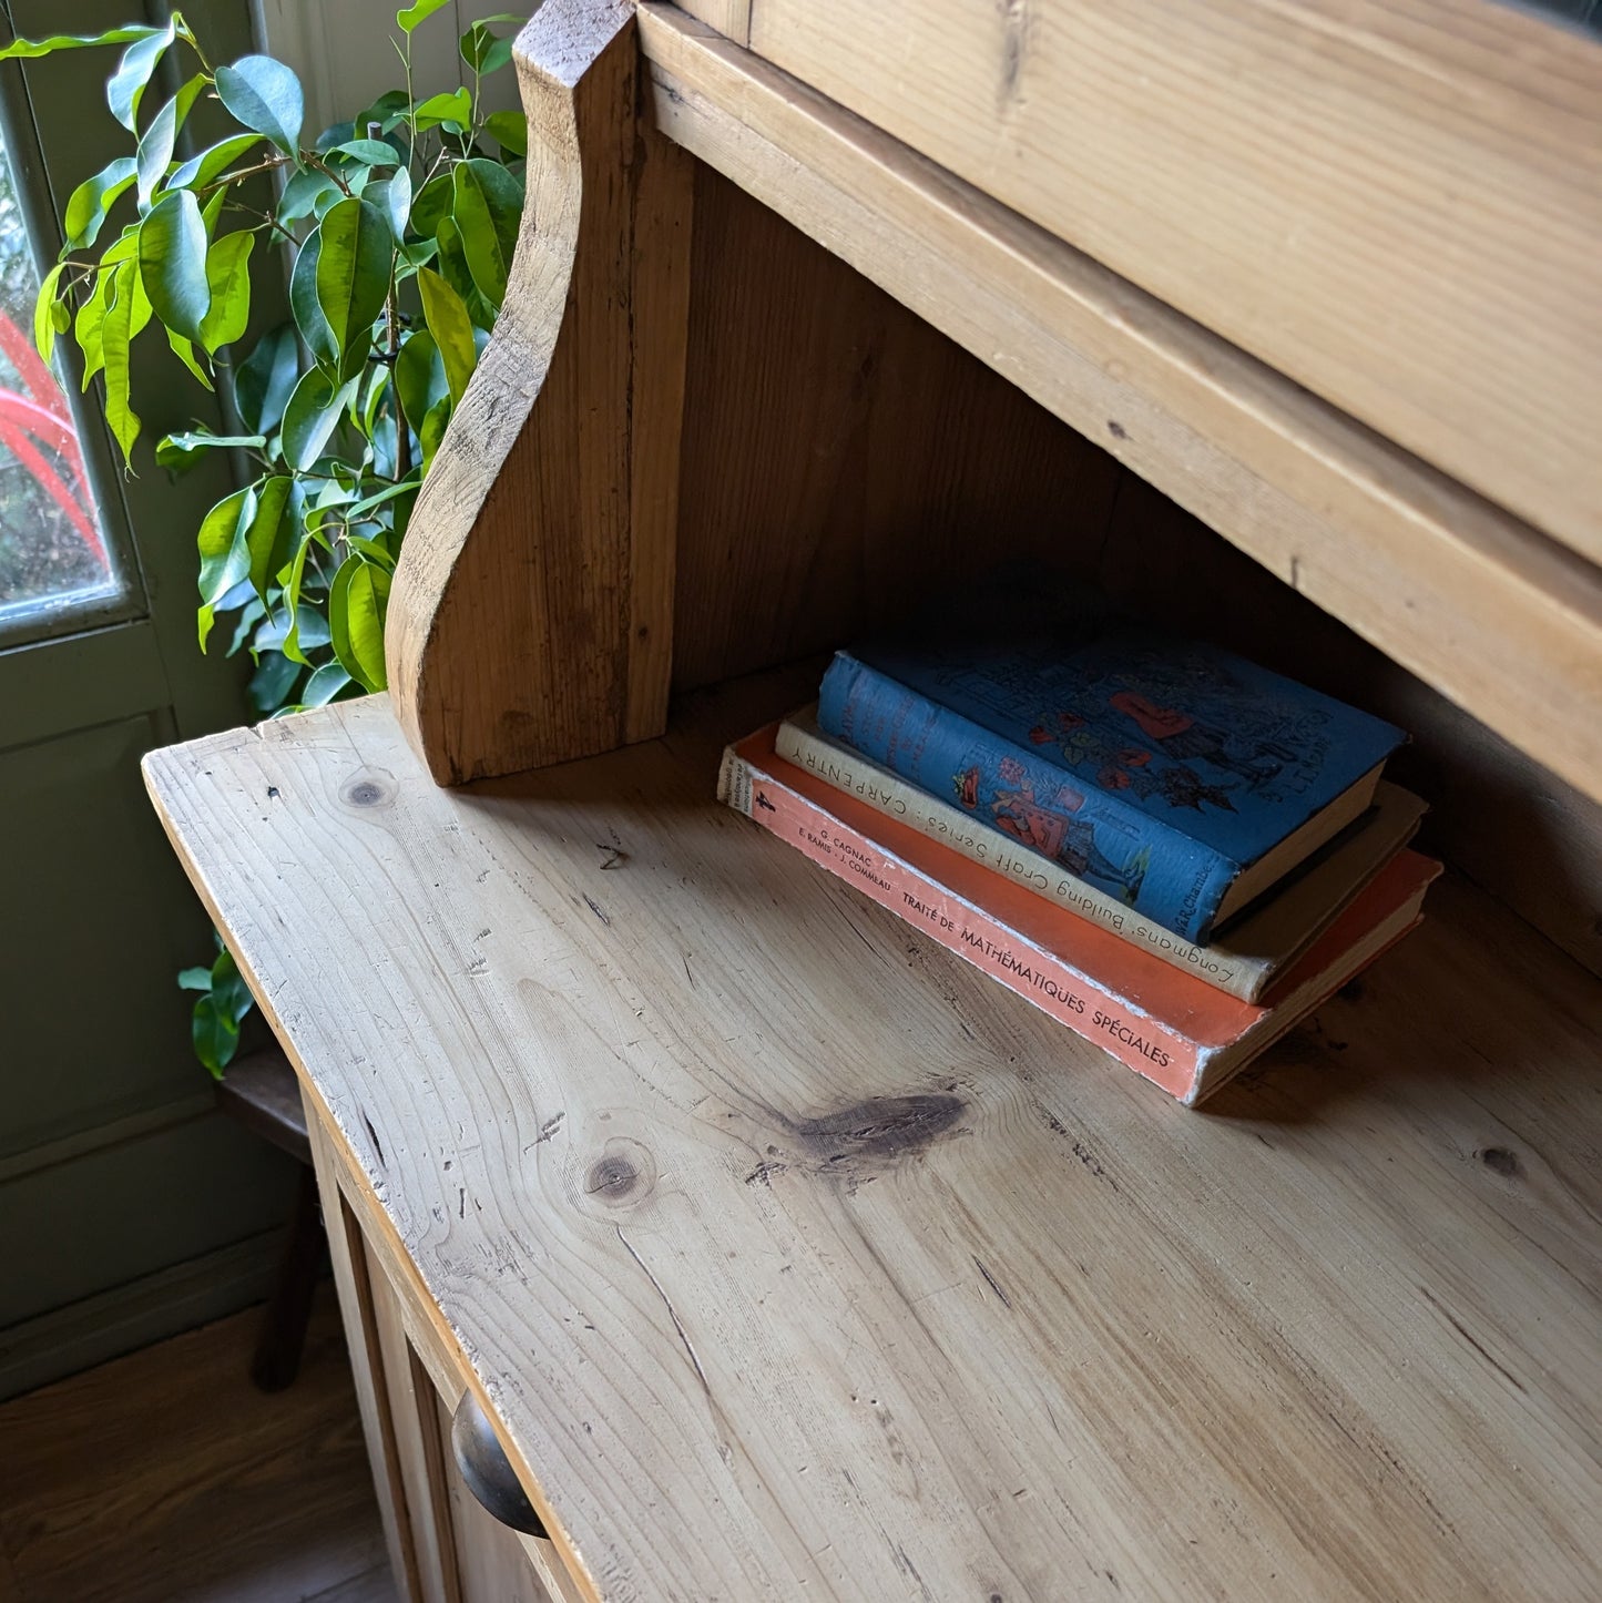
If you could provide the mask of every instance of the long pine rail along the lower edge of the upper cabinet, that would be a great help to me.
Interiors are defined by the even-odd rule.
[[[662,133],[1602,798],[1602,571],[674,6]]]

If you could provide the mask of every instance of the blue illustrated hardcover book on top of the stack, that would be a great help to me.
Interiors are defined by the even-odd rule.
[[[1358,818],[1406,739],[1039,582],[839,652],[818,723],[1196,943]]]

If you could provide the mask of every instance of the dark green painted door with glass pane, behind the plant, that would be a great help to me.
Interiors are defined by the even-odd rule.
[[[37,37],[157,3],[6,10]],[[225,59],[252,48],[247,0],[184,11]],[[69,402],[27,356],[37,260],[72,188],[125,149],[112,66],[74,51],[0,79],[0,1396],[260,1295],[293,1178],[212,1109],[173,983],[212,935],[138,771],[245,717],[239,665],[200,657],[194,627],[194,532],[231,486],[173,483],[148,444],[125,478],[98,382]],[[140,346],[146,441],[223,425],[159,329]]]

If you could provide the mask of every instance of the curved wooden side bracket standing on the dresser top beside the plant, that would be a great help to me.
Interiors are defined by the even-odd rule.
[[[388,617],[394,709],[441,784],[667,717],[691,162],[640,120],[627,0],[545,0],[515,56],[523,232]]]

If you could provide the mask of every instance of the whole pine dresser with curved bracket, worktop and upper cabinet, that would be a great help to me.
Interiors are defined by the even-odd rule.
[[[390,691],[146,765],[404,1595],[1602,1595],[1602,43],[545,0],[518,63]],[[1007,553],[1414,733],[1430,919],[1204,1111],[714,802]]]

